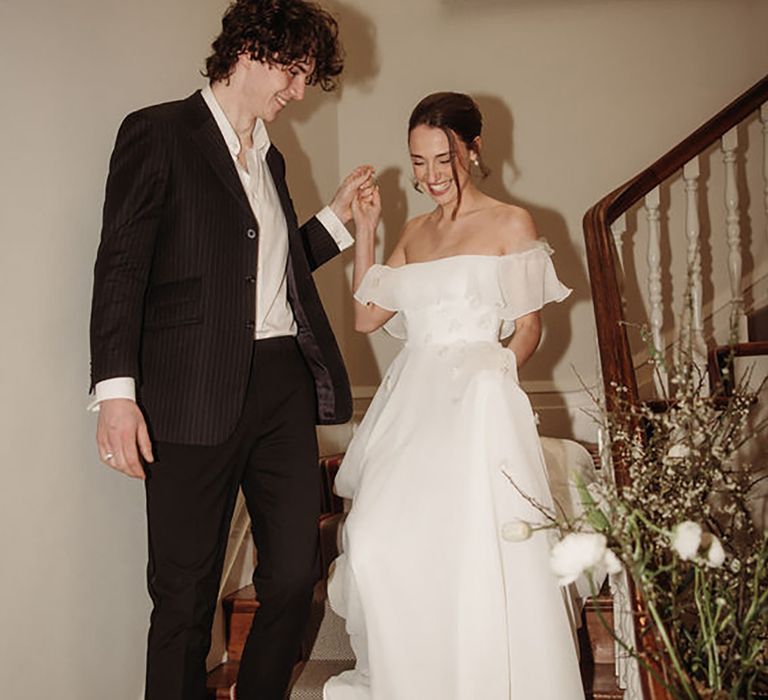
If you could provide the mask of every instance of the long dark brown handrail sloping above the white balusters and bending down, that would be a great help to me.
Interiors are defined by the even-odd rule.
[[[611,234],[611,224],[651,190],[682,170],[686,163],[704,152],[730,129],[759,110],[766,101],[768,101],[768,76],[755,83],[651,166],[603,197],[584,215],[587,265],[608,410],[616,405],[619,387],[623,387],[626,391],[622,400],[635,405],[639,401],[637,378],[624,323],[617,264],[618,251]],[[628,484],[629,474],[618,454],[613,455],[613,466],[616,483],[619,486]],[[652,652],[656,644],[653,635],[647,634],[650,623],[645,614],[643,601],[631,579],[629,595],[636,620],[635,647],[643,654]],[[640,669],[640,678],[646,700],[671,699],[671,695],[663,685],[643,667]]]

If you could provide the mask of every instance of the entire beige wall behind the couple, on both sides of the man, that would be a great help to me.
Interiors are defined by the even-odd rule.
[[[0,4],[0,688],[14,698],[135,700],[147,599],[141,487],[101,467],[83,410],[91,268],[107,158],[132,108],[181,97],[225,0]],[[381,173],[384,247],[427,203],[408,185],[405,122],[437,89],[488,118],[489,191],[528,206],[571,301],[525,376],[539,404],[578,404],[592,312],[580,219],[599,196],[768,68],[759,0],[345,0],[350,70],[285,122],[306,214],[361,160]],[[611,81],[617,87],[607,87]],[[351,331],[349,256],[320,274],[360,387],[395,352]],[[554,381],[554,383],[552,383]],[[571,398],[568,398],[571,397]],[[576,397],[576,398],[573,398]],[[570,404],[569,404],[570,405]]]

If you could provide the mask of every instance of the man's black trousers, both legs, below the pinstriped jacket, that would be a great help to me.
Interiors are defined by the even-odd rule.
[[[157,442],[147,467],[146,700],[205,700],[205,658],[238,489],[252,521],[260,607],[238,700],[282,700],[320,577],[315,389],[293,338],[254,343],[247,398],[213,447]]]

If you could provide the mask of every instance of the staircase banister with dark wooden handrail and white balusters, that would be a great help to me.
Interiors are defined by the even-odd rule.
[[[668,407],[674,391],[664,365],[651,374],[646,342],[639,351],[633,347],[627,326],[645,325],[654,354],[671,366],[681,332],[669,303],[676,284],[689,294],[680,316],[687,316],[692,359],[716,401],[727,401],[733,378],[749,363],[762,358],[765,368],[768,76],[592,206],[584,239],[606,406]],[[761,403],[763,417],[766,409]],[[617,484],[628,484],[618,453],[612,466]],[[647,634],[648,616],[631,580],[626,597],[625,612],[635,620],[628,641],[641,653],[652,652],[654,635]],[[640,694],[632,697],[670,700],[642,667],[639,679]]]

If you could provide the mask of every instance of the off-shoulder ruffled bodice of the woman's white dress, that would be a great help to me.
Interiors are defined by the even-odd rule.
[[[408,345],[498,341],[512,334],[515,319],[570,293],[557,279],[551,254],[537,241],[503,256],[373,265],[355,298],[396,311],[384,328]]]

